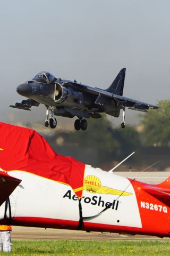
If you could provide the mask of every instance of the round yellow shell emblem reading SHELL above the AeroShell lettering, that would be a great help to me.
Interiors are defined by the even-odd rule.
[[[98,189],[101,188],[101,182],[99,178],[94,175],[88,175],[84,179],[84,189],[86,189],[90,193],[96,193]]]

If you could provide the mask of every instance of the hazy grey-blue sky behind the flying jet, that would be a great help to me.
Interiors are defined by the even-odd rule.
[[[106,89],[126,67],[123,95],[169,99],[169,10],[165,0],[0,0],[1,121],[44,123],[45,107],[8,108],[23,99],[16,86],[41,70]]]

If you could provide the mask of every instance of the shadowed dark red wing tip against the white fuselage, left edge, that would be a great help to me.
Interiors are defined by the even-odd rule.
[[[11,195],[14,189],[20,184],[21,180],[0,171],[0,206]]]

